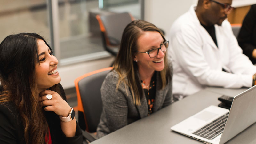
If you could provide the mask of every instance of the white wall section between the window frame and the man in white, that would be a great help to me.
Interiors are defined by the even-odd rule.
[[[168,33],[172,23],[198,0],[145,0],[144,19]]]

